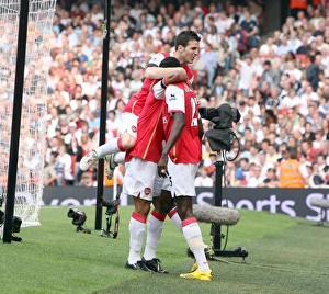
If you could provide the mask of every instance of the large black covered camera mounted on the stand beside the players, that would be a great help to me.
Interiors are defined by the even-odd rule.
[[[200,108],[198,113],[202,118],[214,123],[214,128],[208,129],[205,135],[208,138],[213,151],[230,151],[236,134],[231,131],[232,123],[238,123],[241,118],[240,112],[224,103],[218,108]]]

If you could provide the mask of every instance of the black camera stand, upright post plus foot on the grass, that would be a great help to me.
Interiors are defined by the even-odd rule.
[[[216,182],[215,182],[215,206],[222,207],[223,195],[223,171],[225,168],[225,152],[226,150],[218,150],[215,162]],[[245,248],[238,247],[235,250],[222,250],[222,239],[225,235],[222,234],[220,224],[213,223],[211,227],[211,236],[213,242],[213,250],[216,257],[241,257],[242,263],[246,262],[245,258],[248,252]]]

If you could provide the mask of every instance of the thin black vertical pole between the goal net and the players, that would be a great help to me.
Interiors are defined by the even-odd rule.
[[[109,50],[110,50],[110,18],[111,0],[104,1],[103,22],[103,60],[102,60],[102,89],[101,89],[101,122],[100,122],[100,145],[105,143],[106,135],[106,105],[107,105],[107,79],[109,79]],[[97,210],[94,229],[102,229],[102,205],[101,199],[104,191],[104,160],[99,160],[98,188],[97,188]]]

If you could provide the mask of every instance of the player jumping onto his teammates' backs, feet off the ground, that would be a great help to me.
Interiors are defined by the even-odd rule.
[[[197,41],[196,43],[191,41]],[[100,158],[106,161],[106,176],[112,179],[113,170],[120,162],[124,162],[124,151],[133,148],[136,144],[137,137],[137,118],[144,108],[146,97],[150,92],[152,86],[158,79],[163,79],[169,74],[175,74],[172,80],[162,80],[163,89],[166,83],[173,81],[186,81],[188,79],[193,82],[193,71],[188,66],[192,64],[198,54],[200,36],[193,31],[182,31],[174,41],[175,52],[172,54],[158,53],[149,61],[145,71],[146,79],[143,83],[140,91],[133,95],[126,104],[122,118],[122,135],[121,137],[113,138],[107,143],[94,148],[80,161],[80,169],[88,170]],[[159,64],[169,55],[179,59],[182,67],[179,68],[159,68]]]

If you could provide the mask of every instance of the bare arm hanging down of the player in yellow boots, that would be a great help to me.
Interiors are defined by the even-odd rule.
[[[167,165],[168,165],[168,154],[173,145],[179,139],[184,126],[185,126],[185,115],[182,112],[173,113],[173,124],[169,135],[169,138],[162,149],[161,158],[158,162],[158,173],[160,177],[166,178],[168,174]]]

